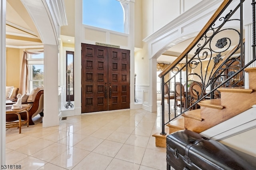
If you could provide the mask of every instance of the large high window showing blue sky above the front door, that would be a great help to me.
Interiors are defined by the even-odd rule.
[[[126,0],[83,0],[82,24],[128,33]]]

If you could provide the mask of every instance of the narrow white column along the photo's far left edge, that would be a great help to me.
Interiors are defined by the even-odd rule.
[[[0,145],[1,145],[1,151],[0,151],[0,164],[5,164],[5,86],[6,86],[6,0],[0,0]]]

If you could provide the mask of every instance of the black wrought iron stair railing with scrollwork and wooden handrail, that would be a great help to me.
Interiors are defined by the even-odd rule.
[[[218,88],[244,86],[244,68],[255,58],[255,2],[252,0],[253,59],[244,64],[243,2],[230,9],[232,0],[224,0],[206,26],[181,55],[160,75],[162,89],[162,132],[167,123],[194,109],[205,99],[220,98]],[[238,17],[238,18],[237,18]],[[232,23],[232,24],[231,24]],[[237,23],[237,24],[236,24]],[[232,27],[230,27],[232,25]],[[237,25],[238,28],[233,26]],[[180,66],[182,60],[186,63]],[[164,81],[165,76],[170,77]],[[186,85],[177,85],[186,84]],[[195,82],[195,83],[193,83]],[[193,89],[190,85],[197,84]],[[165,117],[164,87],[168,85],[168,117]],[[174,97],[174,103],[170,102]],[[177,101],[181,103],[177,106]],[[173,105],[171,109],[170,105]],[[172,110],[172,111],[170,111]],[[179,113],[178,113],[179,110]],[[171,112],[174,118],[171,119]]]

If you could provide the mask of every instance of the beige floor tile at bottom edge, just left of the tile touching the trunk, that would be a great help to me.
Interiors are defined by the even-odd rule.
[[[139,170],[140,165],[114,158],[106,170]]]

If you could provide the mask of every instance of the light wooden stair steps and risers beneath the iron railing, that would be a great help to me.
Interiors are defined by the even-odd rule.
[[[186,111],[166,126],[168,134],[178,130],[192,130],[200,133],[208,128],[214,127],[252,107],[256,104],[256,67],[246,68],[249,75],[249,88],[230,87],[219,88],[221,99],[209,99],[200,101],[200,109]],[[166,136],[159,133],[153,134],[156,137],[156,146],[166,147]]]

